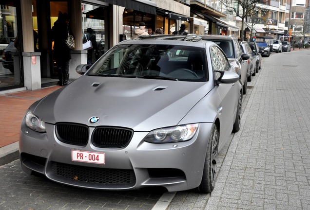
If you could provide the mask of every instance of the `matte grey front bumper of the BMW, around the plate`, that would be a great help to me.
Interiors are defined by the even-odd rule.
[[[199,186],[212,123],[200,123],[194,138],[185,142],[154,144],[143,141],[148,132],[135,132],[122,148],[97,148],[90,138],[85,146],[57,139],[55,125],[47,133],[21,125],[19,152],[22,169],[38,172],[58,183],[99,190],[165,187],[183,191]],[[72,150],[105,154],[105,164],[72,160]]]

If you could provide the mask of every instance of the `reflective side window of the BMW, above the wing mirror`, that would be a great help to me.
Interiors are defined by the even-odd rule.
[[[224,53],[222,53],[219,47],[211,46],[210,53],[211,53],[213,72],[215,70],[218,70],[218,71],[230,70],[230,64],[227,60],[227,57]],[[214,72],[214,79],[217,80],[219,77],[220,77],[220,73]]]

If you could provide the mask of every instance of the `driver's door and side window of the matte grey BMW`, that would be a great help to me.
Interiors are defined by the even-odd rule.
[[[218,47],[213,45],[210,49],[211,60],[212,60],[212,69],[214,80],[216,81],[220,74],[216,71],[232,71],[232,67],[223,53],[223,51]],[[218,84],[215,87],[221,98],[220,105],[217,107],[218,112],[220,113],[220,123],[221,130],[220,135],[223,135],[224,139],[227,138],[227,135],[230,135],[232,131],[233,124],[233,113],[237,104],[239,92],[235,84]]]

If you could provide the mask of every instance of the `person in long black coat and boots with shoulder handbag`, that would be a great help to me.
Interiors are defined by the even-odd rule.
[[[69,35],[72,35],[68,28],[68,14],[58,13],[58,19],[52,27],[52,41],[54,41],[54,57],[56,59],[58,85],[65,86],[69,83],[69,62],[71,59],[70,48],[66,43]],[[73,46],[70,46],[71,48]]]

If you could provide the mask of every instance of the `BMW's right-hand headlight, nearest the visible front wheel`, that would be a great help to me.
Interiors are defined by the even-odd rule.
[[[187,141],[193,138],[198,130],[198,123],[160,128],[151,131],[143,140],[150,143],[171,143]]]

